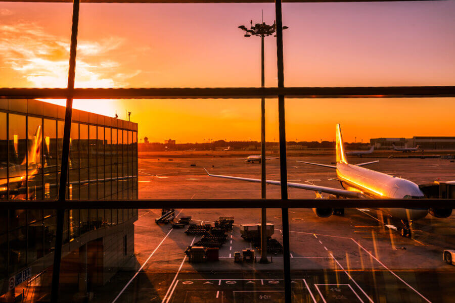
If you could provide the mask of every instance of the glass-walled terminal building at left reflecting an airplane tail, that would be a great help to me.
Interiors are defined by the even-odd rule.
[[[0,99],[0,199],[57,199],[64,117],[62,106]],[[67,198],[138,198],[137,131],[136,123],[73,110]],[[31,283],[45,293],[52,276],[56,211],[0,214],[0,295]],[[137,219],[131,209],[66,211],[62,289],[89,293],[128,264]],[[24,272],[26,279],[18,281]]]

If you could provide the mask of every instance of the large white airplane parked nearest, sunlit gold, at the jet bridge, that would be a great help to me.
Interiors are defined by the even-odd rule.
[[[343,139],[341,137],[341,128],[339,124],[336,125],[336,157],[336,166],[304,161],[298,162],[336,170],[336,180],[341,183],[341,186],[344,189],[292,182],[288,182],[288,187],[313,190],[316,193],[316,198],[323,198],[324,194],[346,198],[425,198],[425,194],[416,183],[363,167],[369,164],[377,163],[379,161],[372,161],[355,165],[349,164],[346,159],[346,153],[343,146]],[[210,174],[207,170],[206,172],[210,177],[257,183],[261,182],[260,179],[213,175]],[[280,181],[266,180],[266,183],[280,185]],[[389,216],[401,220],[403,227],[401,228],[400,232],[402,236],[406,237],[411,237],[410,225],[412,224],[413,220],[424,218],[428,213],[432,214],[436,218],[447,218],[452,213],[452,209],[381,208],[380,210]],[[331,208],[315,208],[313,209],[313,212],[319,217],[327,218],[333,215],[334,212],[335,214],[343,215],[344,209],[334,210]]]

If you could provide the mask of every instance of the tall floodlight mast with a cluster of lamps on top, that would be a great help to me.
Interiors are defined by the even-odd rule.
[[[259,36],[261,37],[261,87],[265,85],[265,66],[264,66],[264,37],[275,34],[277,25],[267,25],[264,22],[264,12],[262,11],[262,23],[253,25],[253,20],[250,21],[250,28],[245,25],[240,25],[239,28],[245,31],[245,37]],[[283,26],[283,29],[287,29]],[[275,139],[274,139],[275,141]],[[261,98],[261,199],[266,198],[265,188],[265,98]],[[259,263],[268,263],[267,259],[267,213],[266,209],[261,209],[261,259]]]

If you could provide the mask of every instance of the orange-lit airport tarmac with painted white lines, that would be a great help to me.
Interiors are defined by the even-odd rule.
[[[181,153],[180,153],[181,154]],[[188,152],[187,152],[188,154]],[[260,177],[260,165],[217,155],[169,152],[139,159],[139,197],[160,199],[259,198],[260,185],[211,178],[214,174]],[[251,153],[254,154],[254,153]],[[159,158],[158,158],[159,157]],[[159,159],[159,160],[158,160]],[[171,160],[171,161],[169,161]],[[296,162],[331,164],[332,156],[288,158],[288,180],[340,187],[328,179],[335,172]],[[349,157],[351,163],[376,158]],[[382,157],[370,169],[418,184],[454,180],[455,163],[441,159]],[[194,165],[194,166],[193,166]],[[267,179],[279,180],[279,160],[267,161]],[[313,198],[314,193],[289,189],[291,198]],[[267,197],[279,198],[280,187],[267,185]],[[216,203],[216,201],[214,201]],[[171,205],[169,206],[171,207]],[[95,293],[99,302],[284,302],[283,255],[269,256],[268,264],[234,263],[234,252],[253,248],[240,237],[240,224],[259,223],[258,209],[178,209],[194,224],[212,224],[219,216],[234,216],[234,228],[219,250],[219,261],[189,263],[187,246],[200,236],[156,224],[161,210],[140,210],[135,223],[135,256]],[[275,224],[273,238],[282,242],[282,211],[267,209]],[[344,216],[319,218],[312,210],[290,209],[292,292],[294,302],[451,302],[455,297],[455,267],[442,260],[442,251],[455,248],[455,215],[428,215],[412,225],[413,238],[397,232],[400,222],[374,209],[346,209]]]

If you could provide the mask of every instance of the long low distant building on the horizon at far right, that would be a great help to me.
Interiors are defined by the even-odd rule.
[[[370,144],[377,149],[392,149],[396,147],[417,147],[420,149],[455,149],[455,137],[412,137],[406,138],[374,138]]]

